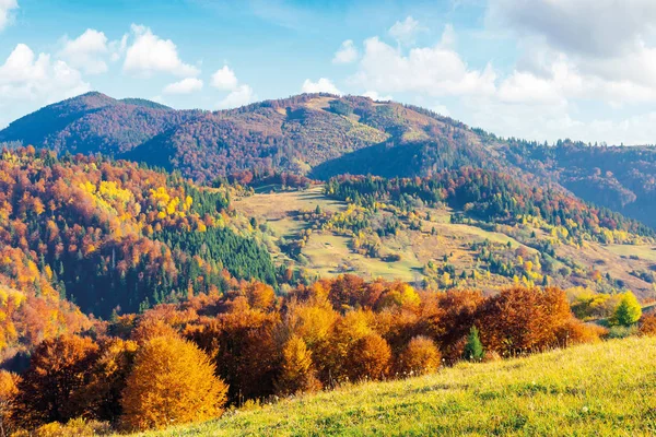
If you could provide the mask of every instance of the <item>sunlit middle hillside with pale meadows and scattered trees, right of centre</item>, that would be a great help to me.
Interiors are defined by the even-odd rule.
[[[406,181],[411,184],[405,190],[412,196],[402,193],[400,184],[397,191],[385,188],[394,180],[344,178],[300,191],[269,186],[253,196],[235,197],[233,204],[253,217],[274,263],[298,279],[353,273],[400,279],[435,291],[473,286],[490,292],[518,281],[604,293],[632,290],[653,298],[656,251],[649,228],[630,229],[635,222],[605,218],[559,192],[537,196],[507,178],[494,185],[494,174],[457,175],[460,172],[445,174],[443,182],[455,187],[467,180],[472,187],[444,199],[434,197],[437,188],[435,193],[427,188],[437,187],[438,177],[420,186],[413,185],[414,179]],[[367,191],[370,187],[379,191]],[[468,194],[473,192],[506,201],[490,205]],[[516,203],[508,199],[523,206],[513,206]],[[562,225],[557,225],[561,218],[553,216],[550,204],[559,205]],[[531,209],[532,216],[526,214]],[[525,217],[516,220],[523,212]],[[605,227],[609,225],[614,229]],[[642,232],[645,236],[636,234]]]

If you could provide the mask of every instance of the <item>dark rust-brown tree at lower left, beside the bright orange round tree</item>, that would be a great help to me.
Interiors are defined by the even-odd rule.
[[[63,335],[44,341],[19,382],[14,418],[33,427],[84,414],[87,404],[82,393],[97,353],[98,345],[90,338]]]

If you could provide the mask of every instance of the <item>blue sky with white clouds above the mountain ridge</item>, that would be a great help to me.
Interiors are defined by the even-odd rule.
[[[366,95],[502,137],[653,144],[656,1],[0,0],[0,128],[87,91]]]

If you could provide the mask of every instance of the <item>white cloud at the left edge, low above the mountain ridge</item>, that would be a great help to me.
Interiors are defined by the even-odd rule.
[[[48,54],[19,44],[0,66],[0,126],[40,106],[90,91],[82,74]]]

